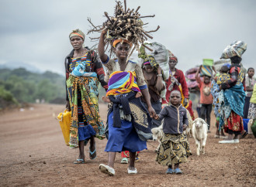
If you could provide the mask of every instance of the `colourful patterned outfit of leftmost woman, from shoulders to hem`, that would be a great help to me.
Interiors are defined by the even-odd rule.
[[[72,111],[69,144],[77,147],[78,141],[85,141],[94,135],[104,138],[104,125],[99,117],[98,105],[99,76],[102,74],[99,69],[102,67],[99,62],[93,61],[91,52],[70,59],[71,62],[66,66],[67,98]],[[98,70],[95,68],[97,66]],[[102,82],[102,85],[106,86],[106,83]]]

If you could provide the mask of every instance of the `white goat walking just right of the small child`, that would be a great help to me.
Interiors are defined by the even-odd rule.
[[[202,154],[205,154],[207,131],[208,124],[206,124],[206,121],[199,117],[193,121],[192,134],[197,147],[196,155],[200,155],[200,151],[202,151]]]

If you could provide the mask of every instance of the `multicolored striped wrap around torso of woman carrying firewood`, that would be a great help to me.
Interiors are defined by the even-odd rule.
[[[109,89],[106,96],[140,92],[137,85],[136,73],[132,71],[115,71],[109,76]]]

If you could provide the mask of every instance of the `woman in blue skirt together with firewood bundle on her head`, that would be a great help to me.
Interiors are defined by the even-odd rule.
[[[129,60],[134,49],[137,51],[140,44],[150,36],[149,32],[156,32],[160,27],[152,31],[145,31],[145,25],[141,19],[154,17],[154,15],[141,16],[138,10],[126,8],[121,2],[116,2],[115,15],[109,16],[107,12],[106,22],[102,26],[93,26],[90,32],[101,32],[99,38],[99,58],[101,59],[109,77],[106,97],[102,99],[109,102],[109,112],[106,123],[106,138],[108,142],[105,151],[109,154],[108,165],[99,165],[101,172],[115,175],[114,162],[116,152],[130,151],[130,165],[128,174],[136,174],[134,162],[137,151],[147,148],[147,140],[151,138],[151,118],[155,116],[154,108],[150,103],[147,83],[144,80],[141,67]],[[111,47],[110,58],[105,54],[105,46]],[[131,47],[133,46],[133,49]],[[114,53],[117,59],[111,59]],[[140,96],[147,103],[147,109],[141,103]]]

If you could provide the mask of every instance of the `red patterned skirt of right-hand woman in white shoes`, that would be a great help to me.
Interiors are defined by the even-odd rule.
[[[240,134],[243,130],[243,117],[231,110],[230,117],[224,120],[224,131],[228,134]]]

